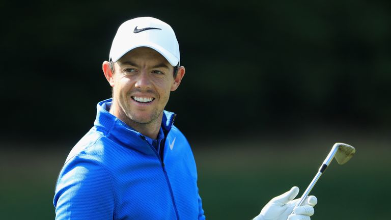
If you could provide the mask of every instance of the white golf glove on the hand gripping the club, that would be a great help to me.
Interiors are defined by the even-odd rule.
[[[299,188],[293,186],[285,194],[274,197],[253,220],[310,220],[310,216],[314,214],[313,207],[318,200],[314,196],[309,196],[301,206],[293,210],[300,200],[293,200],[298,193]],[[294,211],[293,214],[292,211]]]

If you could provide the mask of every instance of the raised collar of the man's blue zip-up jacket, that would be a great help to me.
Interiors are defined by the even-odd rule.
[[[97,130],[102,130],[109,139],[127,146],[139,144],[135,143],[138,141],[143,142],[141,138],[135,139],[135,136],[141,137],[143,134],[109,113],[112,103],[112,99],[106,99],[97,104],[97,114],[94,122],[94,126]],[[163,111],[161,127],[165,135],[167,135],[173,127],[175,116],[176,115],[172,112]]]

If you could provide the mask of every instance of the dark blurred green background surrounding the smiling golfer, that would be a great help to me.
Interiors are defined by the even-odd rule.
[[[321,180],[314,219],[385,218],[379,208],[375,217],[373,209],[346,209],[365,210],[373,195],[390,195],[380,187],[389,177],[376,176],[391,164],[389,1],[60,0],[0,7],[0,186],[8,192],[0,193],[0,213],[7,219],[54,217],[55,177],[93,125],[96,103],[111,95],[101,64],[118,26],[139,16],[159,18],[176,32],[186,75],[166,109],[178,114],[176,125],[192,144],[209,219],[247,219],[293,184],[303,190],[335,142],[352,144],[361,157]],[[353,175],[357,169],[364,173]],[[330,196],[340,190],[346,197]],[[336,207],[340,215],[327,212]],[[20,209],[27,211],[15,215]]]

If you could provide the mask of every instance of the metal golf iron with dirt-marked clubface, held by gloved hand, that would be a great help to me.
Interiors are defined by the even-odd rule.
[[[326,168],[329,166],[332,158],[336,158],[337,162],[339,164],[344,164],[347,161],[352,158],[354,153],[356,152],[356,149],[354,147],[343,144],[343,143],[336,143],[334,146],[332,146],[330,153],[328,153],[326,159],[323,161],[322,166],[319,168],[318,173],[315,175],[314,179],[311,181],[310,185],[305,189],[303,195],[300,198],[300,201],[296,204],[296,207],[300,206],[303,202],[304,199],[307,198],[307,196],[310,194],[310,191],[312,188],[315,186],[315,183],[318,181],[322,173],[326,170]]]

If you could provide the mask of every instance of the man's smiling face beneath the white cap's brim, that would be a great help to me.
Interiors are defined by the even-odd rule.
[[[174,67],[151,48],[139,47],[126,53],[115,63],[109,80],[115,115],[127,124],[161,120],[170,92],[177,89],[184,74],[178,72],[174,78],[173,71]]]

